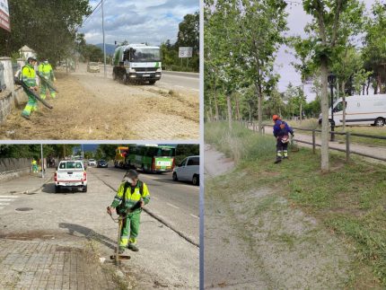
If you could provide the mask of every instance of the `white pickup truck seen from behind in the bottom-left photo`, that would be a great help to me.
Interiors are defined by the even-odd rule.
[[[54,175],[55,193],[60,189],[83,189],[87,192],[87,172],[84,169],[83,162],[79,160],[61,161],[57,166]]]

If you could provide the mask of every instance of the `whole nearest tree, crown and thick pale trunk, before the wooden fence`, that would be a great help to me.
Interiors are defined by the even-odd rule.
[[[304,11],[312,16],[306,27],[313,62],[320,68],[321,83],[321,171],[329,171],[329,93],[328,75],[331,60],[353,36],[360,21],[363,4],[357,0],[303,0]],[[360,17],[358,17],[358,15]]]

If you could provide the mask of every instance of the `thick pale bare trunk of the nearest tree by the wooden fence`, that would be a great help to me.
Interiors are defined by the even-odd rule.
[[[320,59],[320,106],[321,106],[321,161],[320,169],[322,172],[329,171],[329,92],[328,92],[328,66],[327,58]]]

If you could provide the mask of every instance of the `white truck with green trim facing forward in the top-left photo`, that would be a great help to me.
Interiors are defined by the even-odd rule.
[[[146,44],[128,44],[115,49],[112,78],[123,83],[154,84],[161,79],[161,49]]]

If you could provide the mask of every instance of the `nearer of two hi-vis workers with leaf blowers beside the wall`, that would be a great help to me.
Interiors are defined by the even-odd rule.
[[[31,90],[38,91],[38,86],[36,84],[36,73],[35,66],[36,58],[28,57],[27,65],[22,66],[22,72],[20,74],[20,80],[25,83]],[[38,102],[35,99],[35,96],[24,89],[24,92],[28,96],[28,102],[22,111],[22,117],[25,119],[30,119],[31,112],[38,110]]]

